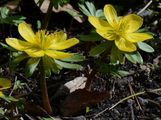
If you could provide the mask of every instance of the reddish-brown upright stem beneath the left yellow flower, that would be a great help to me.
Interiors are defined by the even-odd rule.
[[[43,107],[47,111],[48,114],[51,114],[52,108],[51,108],[49,97],[48,97],[48,90],[47,90],[47,85],[46,85],[46,75],[45,75],[42,60],[40,62],[39,70],[40,70],[40,90],[41,90]]]

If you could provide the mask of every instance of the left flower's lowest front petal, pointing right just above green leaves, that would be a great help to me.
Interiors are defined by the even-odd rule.
[[[65,53],[55,50],[46,50],[45,54],[49,57],[52,57],[53,59],[64,59],[64,58],[70,58],[72,56],[71,53]]]

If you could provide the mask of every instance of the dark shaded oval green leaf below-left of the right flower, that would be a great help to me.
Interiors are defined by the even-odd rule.
[[[109,46],[109,42],[103,42],[96,47],[92,48],[89,52],[90,56],[98,56],[103,53]]]

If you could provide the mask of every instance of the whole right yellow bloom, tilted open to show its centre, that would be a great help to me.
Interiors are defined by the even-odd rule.
[[[135,43],[153,38],[147,33],[139,33],[143,19],[136,14],[118,17],[114,7],[105,5],[104,15],[107,21],[89,16],[89,22],[96,28],[96,32],[107,40],[114,40],[115,45],[125,52],[136,51]]]

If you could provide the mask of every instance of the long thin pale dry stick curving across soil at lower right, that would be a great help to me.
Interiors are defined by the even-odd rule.
[[[149,90],[149,92],[158,92],[158,91],[161,91],[161,88]],[[103,113],[106,112],[107,110],[112,110],[114,107],[116,107],[116,106],[119,105],[120,103],[124,102],[125,100],[128,100],[128,99],[130,99],[130,98],[133,98],[133,97],[135,97],[135,96],[143,95],[143,94],[145,94],[145,93],[146,93],[146,91],[143,91],[143,92],[138,92],[138,93],[136,93],[136,94],[127,96],[127,97],[121,99],[120,101],[118,101],[117,103],[115,103],[112,107],[106,108],[106,109],[104,109],[103,111],[99,112],[98,114],[96,114],[96,115],[94,116],[94,118],[95,118],[95,117],[98,117],[98,116],[101,115],[101,114],[103,114]]]

